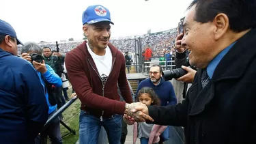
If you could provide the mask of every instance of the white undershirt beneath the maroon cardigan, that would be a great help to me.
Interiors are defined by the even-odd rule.
[[[88,43],[87,48],[92,59],[94,59],[94,63],[96,64],[96,68],[98,69],[98,73],[100,74],[100,78],[102,78],[102,81],[106,80],[111,72],[112,67],[112,53],[109,46],[106,47],[106,53],[102,56],[96,55],[93,51],[91,51]]]

